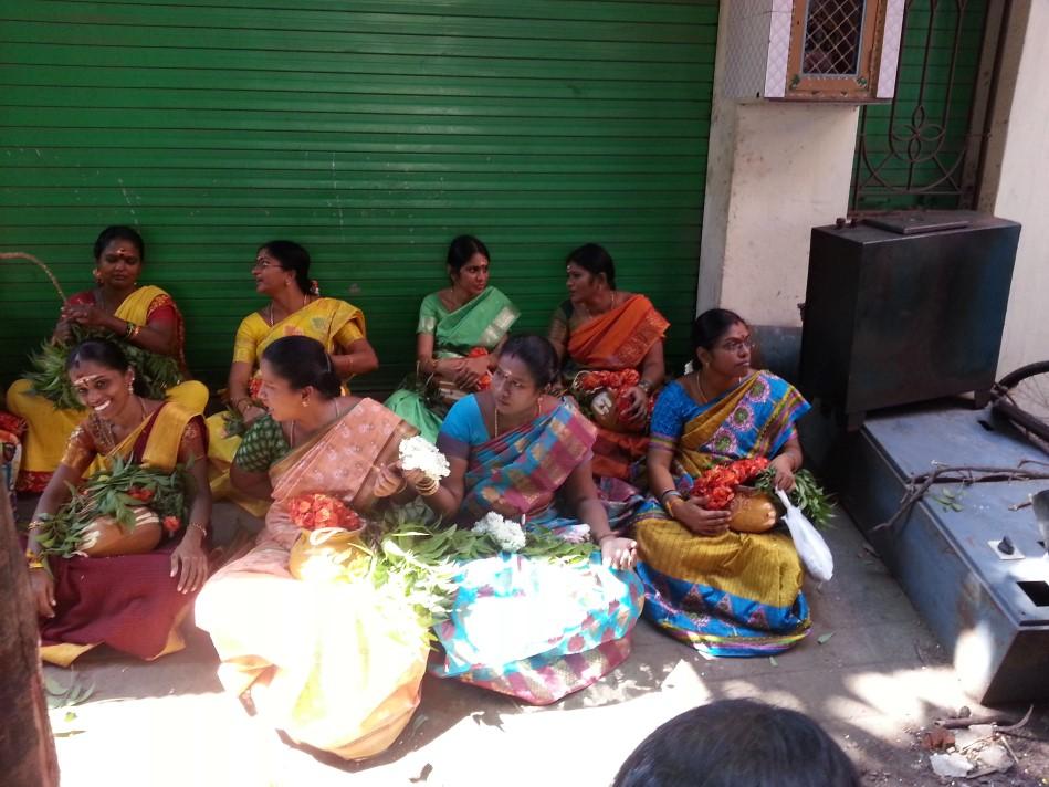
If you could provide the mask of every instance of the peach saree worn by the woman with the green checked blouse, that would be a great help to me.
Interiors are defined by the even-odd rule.
[[[386,749],[411,718],[426,673],[428,636],[403,598],[370,580],[307,581],[289,570],[296,495],[323,491],[360,513],[374,503],[377,468],[412,429],[371,399],[270,470],[274,503],[255,547],[212,577],[197,600],[234,695],[293,739],[346,759]]]

